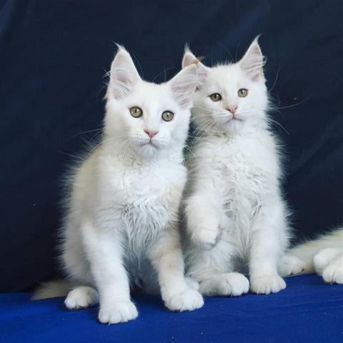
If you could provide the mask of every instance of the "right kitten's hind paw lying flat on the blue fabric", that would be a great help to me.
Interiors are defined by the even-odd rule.
[[[207,296],[238,297],[249,292],[249,280],[243,274],[217,274],[200,282],[200,292]]]

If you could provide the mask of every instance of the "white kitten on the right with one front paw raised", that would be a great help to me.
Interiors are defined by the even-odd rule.
[[[190,156],[185,216],[189,275],[206,295],[259,294],[286,287],[277,272],[287,248],[279,148],[269,131],[264,58],[257,39],[241,61],[209,68],[186,51],[204,82],[194,94],[198,138]]]

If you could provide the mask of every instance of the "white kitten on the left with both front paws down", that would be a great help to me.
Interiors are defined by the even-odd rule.
[[[72,286],[66,307],[99,301],[101,323],[127,322],[138,315],[135,285],[159,290],[172,311],[197,309],[204,302],[184,277],[178,229],[197,66],[152,84],[119,46],[110,75],[103,139],[70,180],[61,257]],[[52,284],[35,298],[50,291],[61,295]]]

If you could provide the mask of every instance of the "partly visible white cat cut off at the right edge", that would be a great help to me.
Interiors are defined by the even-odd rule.
[[[343,229],[289,249],[279,262],[280,274],[317,272],[325,282],[343,284]]]

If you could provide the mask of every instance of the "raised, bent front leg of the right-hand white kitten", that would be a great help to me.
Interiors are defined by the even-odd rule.
[[[220,234],[219,214],[211,194],[194,194],[187,199],[185,215],[192,241],[204,249],[211,249]]]

